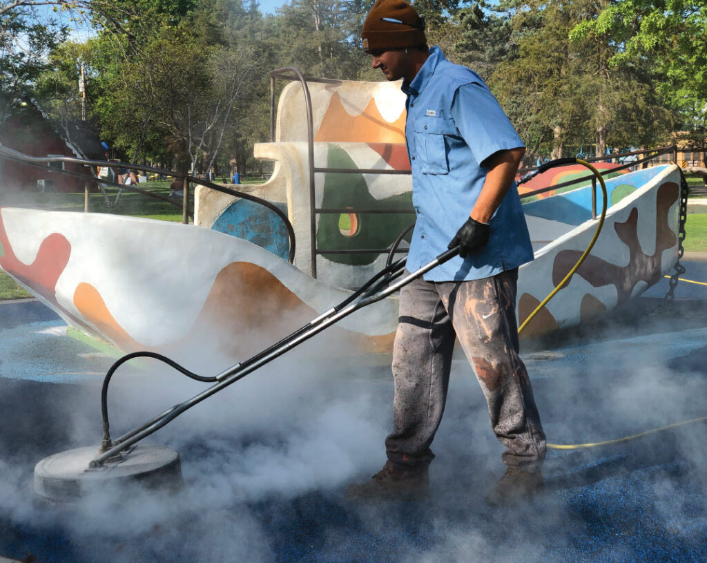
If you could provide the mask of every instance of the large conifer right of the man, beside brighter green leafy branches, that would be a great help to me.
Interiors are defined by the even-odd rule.
[[[653,74],[640,59],[609,65],[619,49],[611,37],[570,33],[602,2],[520,0],[512,18],[518,54],[501,63],[491,87],[532,153],[553,158],[566,144],[643,144],[667,136],[672,115],[652,92]],[[588,136],[591,131],[592,137]]]

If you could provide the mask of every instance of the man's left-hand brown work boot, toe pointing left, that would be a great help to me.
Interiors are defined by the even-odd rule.
[[[421,500],[430,494],[430,477],[427,468],[418,472],[399,472],[390,461],[382,470],[365,483],[350,484],[346,498],[358,501]]]

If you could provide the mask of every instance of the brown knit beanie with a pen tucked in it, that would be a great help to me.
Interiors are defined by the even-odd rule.
[[[404,0],[376,0],[363,22],[363,50],[425,45],[425,21]]]

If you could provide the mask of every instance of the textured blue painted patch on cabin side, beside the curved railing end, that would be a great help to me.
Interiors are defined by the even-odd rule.
[[[275,203],[282,211],[285,204]],[[273,211],[247,199],[238,199],[223,210],[211,225],[214,231],[248,240],[287,260],[290,243],[284,221]]]

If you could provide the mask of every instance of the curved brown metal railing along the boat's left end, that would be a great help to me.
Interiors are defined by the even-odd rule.
[[[189,174],[184,174],[184,173],[177,173],[173,172],[171,170],[163,170],[162,168],[153,168],[152,166],[143,166],[141,164],[132,164],[132,163],[124,163],[124,162],[115,162],[115,161],[94,161],[94,160],[89,160],[87,158],[75,158],[72,156],[30,156],[25,153],[21,153],[20,151],[16,151],[14,149],[9,149],[8,147],[0,144],[0,158],[7,158],[11,161],[16,161],[16,162],[21,162],[25,163],[28,166],[33,166],[35,168],[42,168],[43,170],[46,170],[47,173],[51,174],[64,174],[64,175],[69,175],[74,178],[81,178],[86,180],[86,190],[88,193],[88,185],[90,183],[95,182],[98,185],[110,185],[112,187],[118,187],[123,190],[129,190],[133,192],[138,192],[141,194],[144,194],[148,197],[152,197],[154,199],[160,199],[161,201],[168,202],[170,204],[175,205],[175,207],[182,209],[182,222],[185,224],[189,223],[189,217],[191,216],[189,214],[189,184],[199,184],[204,187],[208,187],[211,190],[215,190],[216,192],[221,192],[224,194],[228,195],[233,195],[235,197],[239,197],[240,199],[247,199],[250,202],[254,202],[257,204],[262,205],[263,207],[267,207],[270,211],[272,211],[274,214],[279,216],[280,219],[284,222],[287,232],[288,232],[288,240],[289,240],[289,245],[290,245],[290,250],[288,253],[288,260],[289,262],[294,262],[295,258],[295,231],[294,228],[292,227],[292,224],[290,220],[288,219],[288,216],[284,214],[284,212],[277,207],[275,204],[267,201],[267,199],[262,199],[260,197],[256,197],[254,195],[246,194],[243,192],[239,192],[238,190],[231,190],[228,187],[223,187],[218,184],[214,184],[214,182],[209,182],[208,180],[203,180],[202,178],[196,178],[192,175]],[[80,172],[74,172],[73,170],[62,170],[59,168],[54,168],[52,166],[49,166],[49,163],[74,163],[74,164],[80,164],[83,166],[86,166],[87,168],[90,169],[90,175],[88,174],[82,174]],[[141,172],[146,172],[146,173],[151,173],[151,174],[158,174],[158,175],[163,175],[163,176],[170,176],[172,178],[179,178],[184,182],[184,190],[183,190],[183,197],[182,197],[182,204],[179,204],[178,202],[174,202],[173,200],[169,199],[168,197],[165,197],[160,194],[156,194],[153,192],[150,192],[148,190],[143,190],[141,187],[137,187],[136,185],[122,185],[117,182],[112,182],[111,180],[106,180],[104,178],[98,178],[93,171],[93,167],[95,166],[109,166],[110,168],[127,168],[129,170],[139,170]],[[84,205],[84,211],[88,211],[88,205]]]

